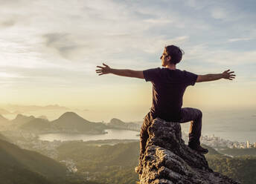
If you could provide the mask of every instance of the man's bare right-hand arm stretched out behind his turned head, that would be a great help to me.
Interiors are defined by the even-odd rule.
[[[199,75],[196,79],[196,82],[208,82],[208,81],[214,81],[218,79],[234,79],[234,71],[225,70],[223,73],[217,73],[217,74],[206,74],[206,75]]]

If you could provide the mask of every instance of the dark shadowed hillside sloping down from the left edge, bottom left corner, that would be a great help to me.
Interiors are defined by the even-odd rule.
[[[34,151],[27,151],[0,139],[1,177],[16,180],[25,174],[36,180],[63,180],[66,168],[59,162]],[[14,174],[17,177],[8,177]],[[48,180],[46,180],[48,178]]]

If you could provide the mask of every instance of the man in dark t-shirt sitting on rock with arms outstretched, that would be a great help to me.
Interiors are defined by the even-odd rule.
[[[143,157],[149,135],[147,128],[153,119],[159,117],[167,122],[191,122],[188,146],[202,154],[208,149],[200,146],[202,130],[202,112],[196,108],[182,108],[182,98],[185,89],[195,82],[208,82],[218,79],[234,79],[234,71],[225,70],[223,73],[196,75],[186,70],[176,69],[176,64],[182,60],[182,50],[175,45],[164,47],[161,57],[161,66],[149,70],[120,70],[97,66],[99,75],[113,73],[118,76],[145,79],[153,84],[153,103],[150,112],[144,117],[140,134],[140,155]]]

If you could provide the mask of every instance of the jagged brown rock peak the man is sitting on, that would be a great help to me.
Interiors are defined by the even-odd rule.
[[[148,133],[146,151],[137,168],[140,184],[238,184],[212,171],[203,154],[185,145],[179,123],[157,118]]]

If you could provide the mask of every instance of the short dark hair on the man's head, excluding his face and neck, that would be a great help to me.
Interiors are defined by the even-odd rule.
[[[168,45],[165,47],[167,56],[170,56],[170,62],[176,65],[182,60],[182,55],[185,54],[182,49],[175,45]]]

